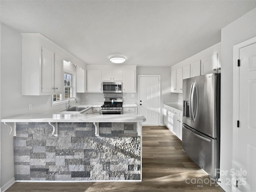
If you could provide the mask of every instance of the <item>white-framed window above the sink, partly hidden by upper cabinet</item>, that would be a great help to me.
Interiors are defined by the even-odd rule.
[[[64,92],[63,94],[53,94],[52,104],[68,100],[73,96],[73,74],[64,71]]]

